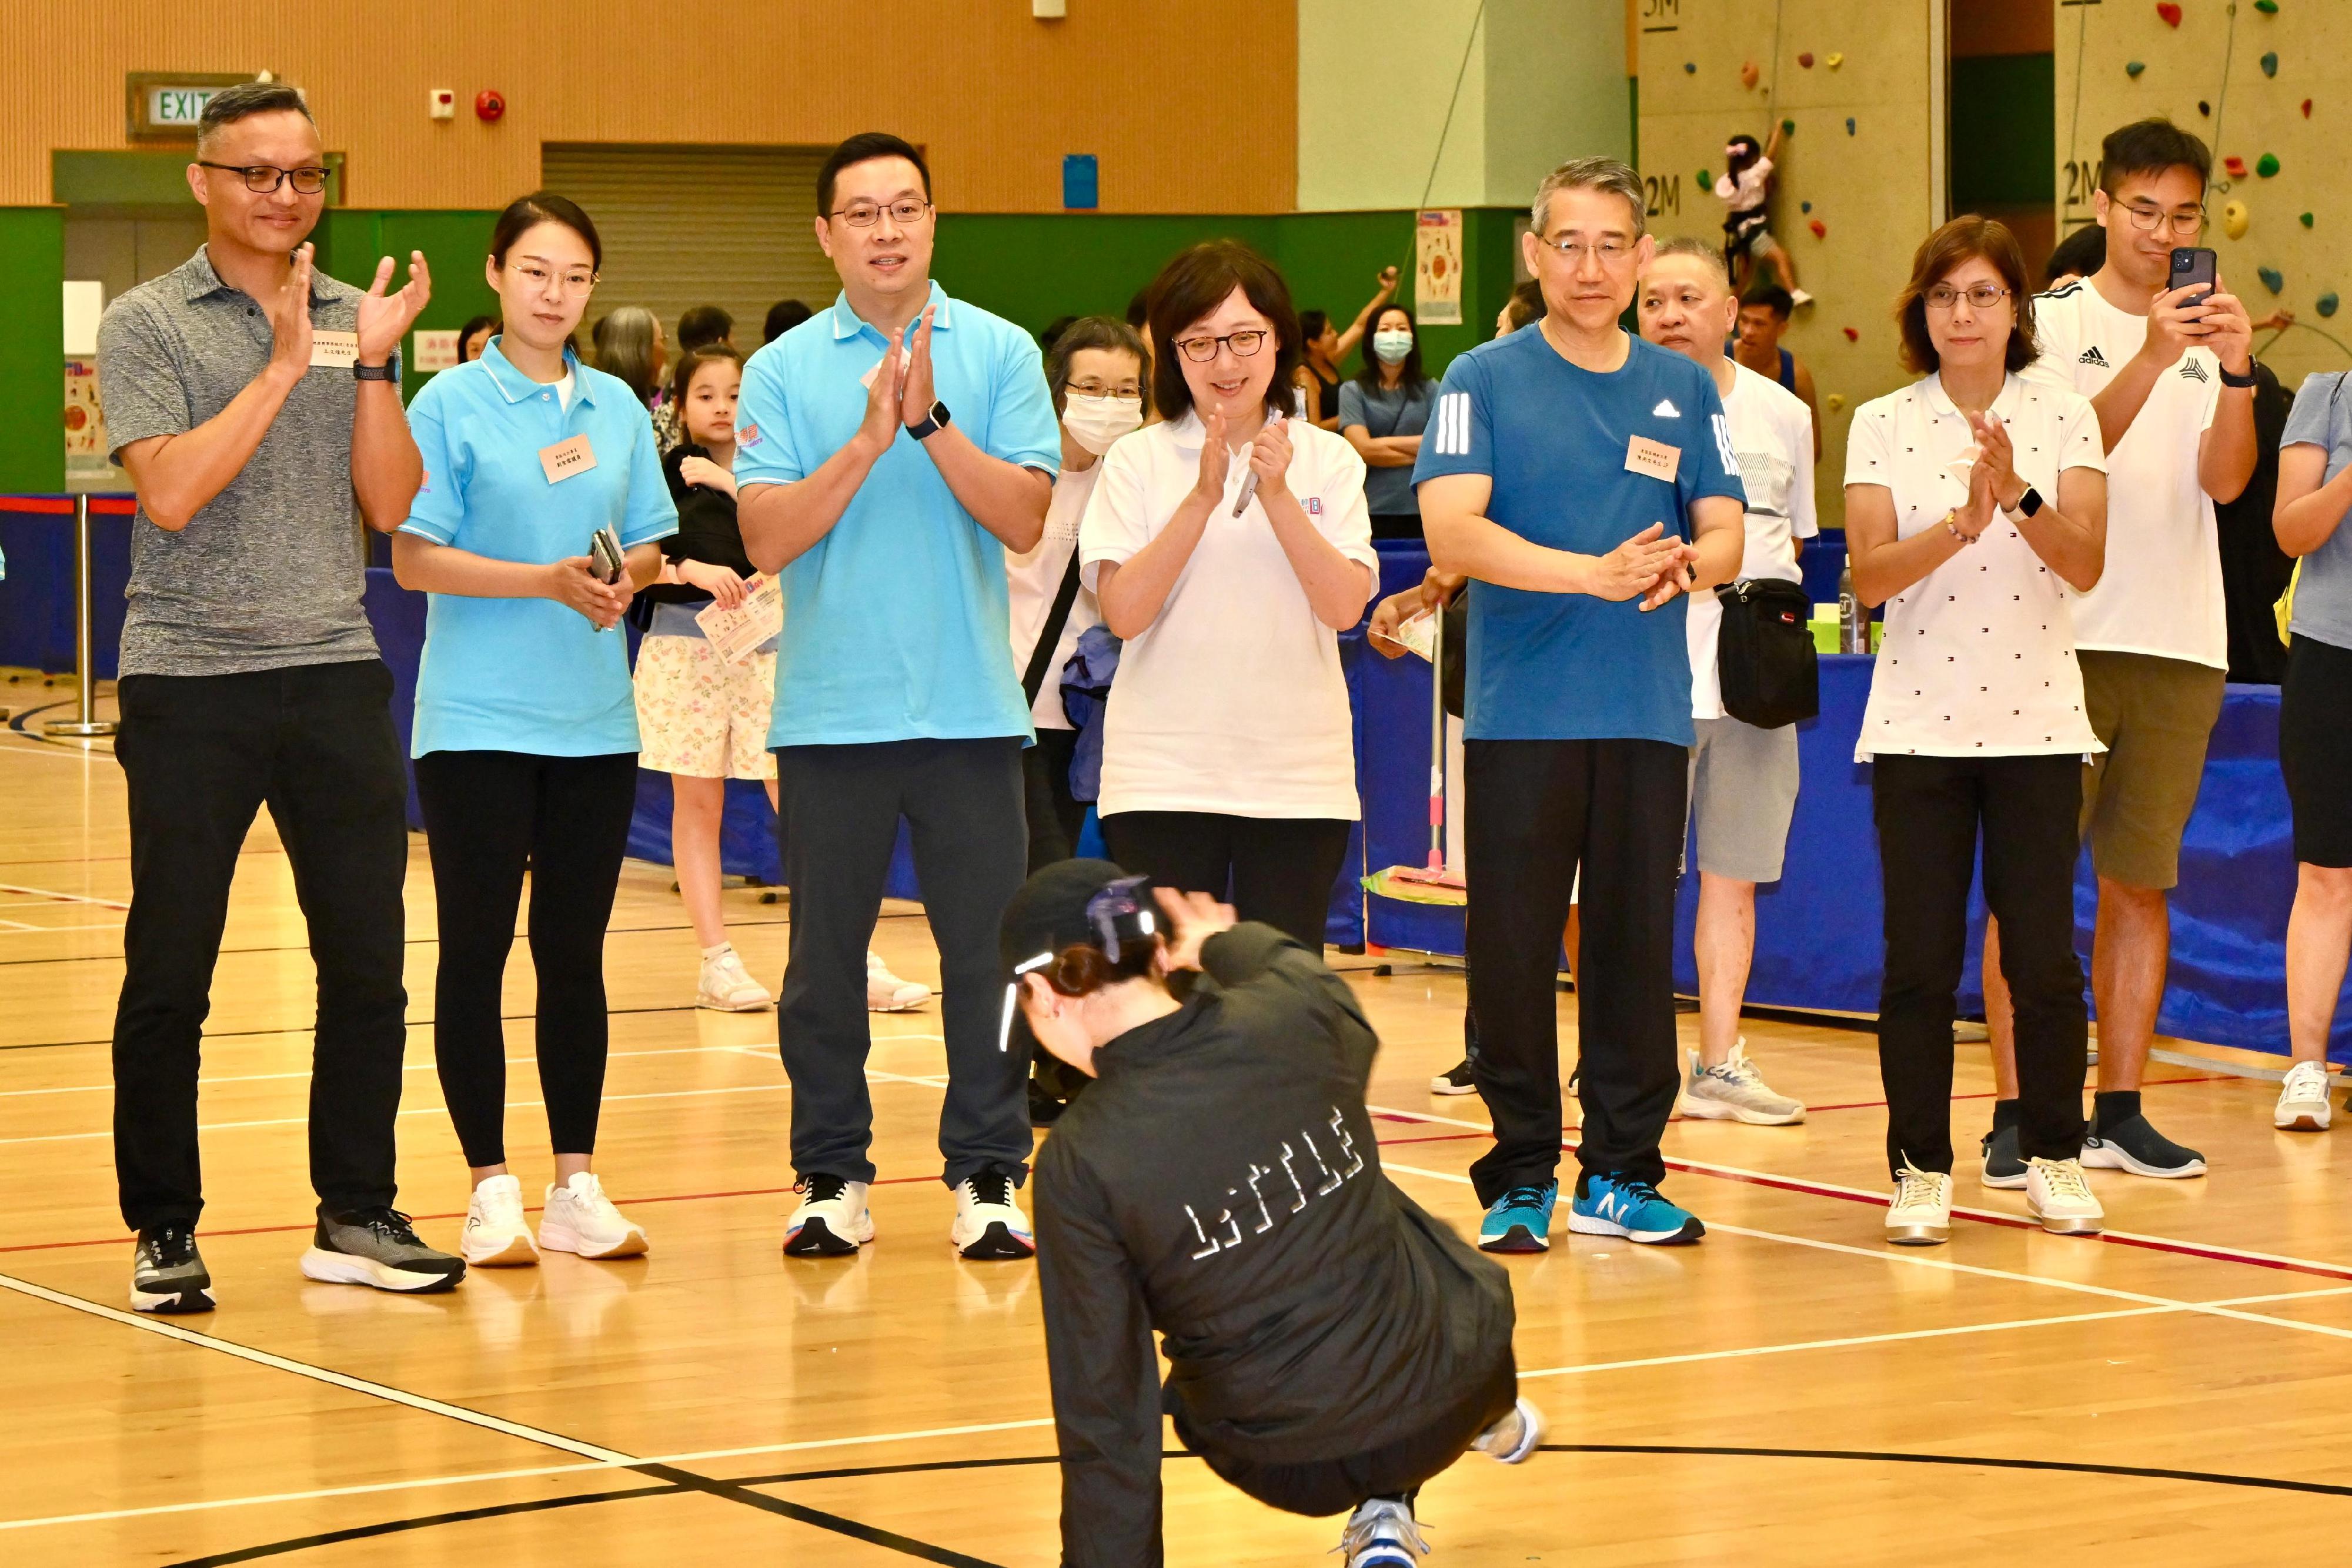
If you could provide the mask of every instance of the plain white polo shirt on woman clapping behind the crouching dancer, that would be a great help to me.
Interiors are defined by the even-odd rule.
[[[1287,487],[1341,555],[1378,585],[1364,458],[1345,437],[1291,421]],[[1080,524],[1089,590],[1103,562],[1124,564],[1176,515],[1200,475],[1197,414],[1112,442]],[[1355,722],[1338,632],[1315,618],[1265,508],[1232,515],[1249,463],[1235,454],[1225,494],[1160,618],[1120,651],[1103,715],[1103,816],[1362,816]]]

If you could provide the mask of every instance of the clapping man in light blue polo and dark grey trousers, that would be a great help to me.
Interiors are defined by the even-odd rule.
[[[776,717],[793,940],[776,1001],[800,1208],[788,1255],[873,1241],[866,938],[898,820],[938,943],[938,1150],[964,1258],[1035,1251],[1028,1058],[997,1039],[997,919],[1028,870],[1028,703],[1004,552],[1030,550],[1061,465],[1037,343],[931,282],[931,172],[880,132],[816,176],[842,294],[750,357],[736,404],[743,548],[783,583]]]

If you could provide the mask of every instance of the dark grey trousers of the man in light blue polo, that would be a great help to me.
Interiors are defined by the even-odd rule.
[[[790,959],[776,999],[783,1070],[793,1079],[793,1168],[875,1178],[873,1095],[866,1091],[866,940],[898,818],[915,839],[922,910],[938,943],[948,1098],[938,1152],[953,1187],[967,1175],[1028,1175],[1028,1056],[1002,1051],[1004,976],[997,924],[1021,891],[1021,738],[882,741],[776,750],[783,877],[793,889]]]

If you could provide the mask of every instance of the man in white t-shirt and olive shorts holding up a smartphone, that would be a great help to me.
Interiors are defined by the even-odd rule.
[[[2042,357],[2023,371],[2089,397],[2107,444],[2107,571],[2074,607],[2084,708],[2107,748],[2082,790],[2098,872],[2098,1100],[2082,1164],[2185,1178],[2204,1175],[2204,1157],[2140,1114],[2140,1074],[2164,999],[2166,893],[2180,879],[2180,832],[2230,668],[2213,503],[2253,475],[2253,324],[2211,270],[2213,252],[2197,249],[2213,174],[2206,143],[2171,120],[2138,120],[2110,134],[2103,155],[2093,209],[2107,261],[2034,299]],[[2173,287],[2180,277],[2192,282]],[[2002,1093],[1985,1182],[2023,1187],[1997,936],[1985,947]]]

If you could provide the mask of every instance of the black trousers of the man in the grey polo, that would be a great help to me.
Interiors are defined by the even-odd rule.
[[[393,1201],[407,992],[407,773],[374,658],[249,675],[129,675],[132,912],[115,1006],[115,1178],[132,1229],[205,1208],[195,1079],[228,884],[266,804],[318,964],[310,1187],[327,1213]]]

